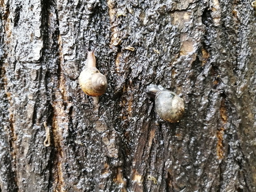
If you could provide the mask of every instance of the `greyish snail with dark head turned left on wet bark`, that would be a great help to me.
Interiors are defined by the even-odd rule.
[[[183,99],[161,85],[148,85],[145,92],[149,98],[155,99],[156,112],[162,119],[179,122],[185,111]]]

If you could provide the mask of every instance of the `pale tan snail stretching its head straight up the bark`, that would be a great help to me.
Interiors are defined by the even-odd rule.
[[[107,89],[107,78],[96,68],[95,47],[92,51],[85,49],[87,51],[86,67],[79,75],[81,89],[92,97],[102,95]]]

